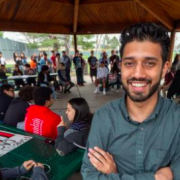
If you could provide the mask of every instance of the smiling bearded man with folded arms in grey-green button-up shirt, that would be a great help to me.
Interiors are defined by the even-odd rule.
[[[168,63],[168,32],[152,23],[121,36],[125,96],[100,108],[84,155],[84,180],[179,180],[180,107],[158,92]]]

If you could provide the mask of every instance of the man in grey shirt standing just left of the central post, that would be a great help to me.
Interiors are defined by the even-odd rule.
[[[67,77],[68,81],[71,81],[71,76],[70,76],[70,73],[71,73],[71,59],[66,54],[66,51],[62,51],[61,62],[65,64],[66,77]]]

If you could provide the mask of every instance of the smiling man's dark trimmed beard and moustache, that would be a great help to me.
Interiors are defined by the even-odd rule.
[[[153,86],[152,86],[152,88],[150,89],[150,92],[149,92],[149,94],[147,95],[147,96],[143,96],[143,93],[136,93],[136,97],[135,96],[132,96],[130,93],[129,93],[129,91],[128,91],[128,88],[126,88],[125,86],[124,86],[124,84],[123,84],[123,82],[122,82],[122,86],[123,86],[123,89],[124,89],[124,91],[125,91],[125,93],[127,94],[127,96],[129,96],[129,98],[132,100],[132,101],[134,101],[134,102],[143,102],[143,101],[146,101],[147,99],[149,99],[158,89],[159,89],[159,85],[160,85],[160,82],[161,82],[161,77],[162,77],[162,73],[161,73],[161,76],[160,76],[160,78],[159,78],[159,81],[156,83],[156,84],[154,84]],[[151,80],[149,80],[149,79],[136,79],[136,78],[131,78],[131,79],[128,79],[128,81],[127,81],[127,85],[129,84],[129,81],[132,83],[133,81],[139,81],[139,82],[141,82],[141,81],[143,81],[143,82],[148,82],[148,83],[151,83],[152,81]]]

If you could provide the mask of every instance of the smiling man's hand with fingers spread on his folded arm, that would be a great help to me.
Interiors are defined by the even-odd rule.
[[[94,149],[89,149],[88,156],[90,162],[98,171],[104,174],[117,173],[113,156],[108,152],[105,152],[98,147],[94,147]]]

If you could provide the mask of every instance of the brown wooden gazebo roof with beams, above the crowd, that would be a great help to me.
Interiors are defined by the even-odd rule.
[[[0,30],[56,34],[119,33],[137,22],[180,30],[178,0],[0,0]]]

